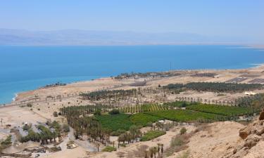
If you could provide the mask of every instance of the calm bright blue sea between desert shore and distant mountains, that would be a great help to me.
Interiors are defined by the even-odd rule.
[[[241,46],[0,46],[0,103],[57,81],[122,72],[237,69],[264,63],[264,51]]]

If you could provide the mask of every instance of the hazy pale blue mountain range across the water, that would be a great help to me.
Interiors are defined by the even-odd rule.
[[[147,44],[249,44],[249,39],[208,37],[189,33],[113,32],[63,29],[27,31],[0,29],[0,45],[73,46],[73,45],[147,45]]]

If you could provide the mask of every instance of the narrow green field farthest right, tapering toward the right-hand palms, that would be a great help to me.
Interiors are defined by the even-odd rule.
[[[241,115],[246,113],[252,113],[251,108],[248,107],[234,107],[223,105],[190,105],[186,107],[188,110],[194,110],[199,112],[206,112],[211,114],[222,114],[225,116]]]

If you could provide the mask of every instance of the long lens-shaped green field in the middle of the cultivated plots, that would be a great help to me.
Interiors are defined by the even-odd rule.
[[[197,119],[217,119],[218,117],[223,117],[218,114],[195,112],[191,110],[164,110],[156,112],[145,112],[145,114],[170,119],[172,121],[194,121]]]

